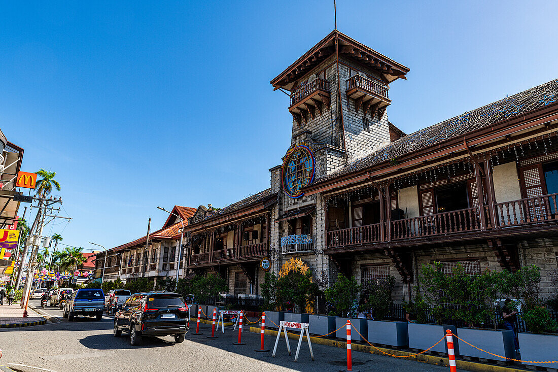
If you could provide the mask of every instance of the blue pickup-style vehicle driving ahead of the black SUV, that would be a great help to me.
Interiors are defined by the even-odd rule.
[[[76,290],[64,306],[64,318],[73,321],[78,315],[89,317],[96,316],[97,320],[103,317],[104,293],[100,288],[81,288]]]

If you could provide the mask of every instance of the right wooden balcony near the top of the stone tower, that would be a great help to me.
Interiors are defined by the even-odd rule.
[[[391,104],[388,89],[386,84],[362,75],[354,75],[347,79],[347,96],[354,99],[356,111],[362,106],[365,113],[371,111],[372,117],[378,111],[383,114]]]

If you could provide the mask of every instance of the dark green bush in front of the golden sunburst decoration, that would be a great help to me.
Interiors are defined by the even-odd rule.
[[[314,303],[319,293],[318,284],[312,282],[310,271],[301,273],[294,270],[277,279],[276,298],[282,307],[286,307],[287,302],[292,302],[301,313],[305,313],[306,304]]]

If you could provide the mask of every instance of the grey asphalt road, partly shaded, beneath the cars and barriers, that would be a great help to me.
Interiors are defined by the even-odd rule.
[[[51,316],[62,319],[57,308],[46,308]],[[19,371],[37,371],[34,366],[55,372],[74,371],[336,371],[346,366],[346,351],[336,347],[313,345],[315,361],[311,361],[307,344],[302,344],[299,361],[294,363],[296,342],[291,340],[292,356],[288,356],[285,341],[275,358],[271,352],[259,353],[259,335],[243,333],[247,345],[236,346],[238,333],[225,327],[225,334],[209,339],[211,326],[201,325],[203,335],[186,335],[182,344],[174,337],[146,338],[139,347],[129,344],[126,333],[112,335],[113,320],[103,317],[78,317],[74,322],[47,323],[44,326],[0,331],[2,365]],[[274,337],[266,336],[266,347],[273,347]],[[26,366],[18,366],[22,364]],[[353,369],[360,371],[447,371],[448,368],[410,360],[353,352]]]

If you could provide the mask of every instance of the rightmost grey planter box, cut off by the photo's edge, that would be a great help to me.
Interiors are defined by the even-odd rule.
[[[536,335],[531,332],[518,333],[521,359],[530,361],[558,360],[558,335]],[[523,363],[558,369],[558,363]]]

